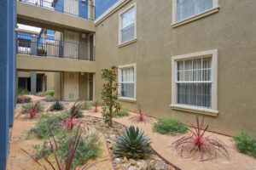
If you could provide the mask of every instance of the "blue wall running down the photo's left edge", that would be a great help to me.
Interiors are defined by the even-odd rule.
[[[0,170],[6,168],[15,99],[15,1],[0,6]]]

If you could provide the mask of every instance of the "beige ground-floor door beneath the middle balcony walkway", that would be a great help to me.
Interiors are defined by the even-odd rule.
[[[79,73],[78,72],[64,73],[64,99],[65,100],[79,99]]]

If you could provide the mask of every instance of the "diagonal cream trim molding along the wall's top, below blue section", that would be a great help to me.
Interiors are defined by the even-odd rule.
[[[98,26],[102,23],[103,20],[108,19],[110,15],[115,13],[117,10],[119,10],[119,8],[122,8],[123,6],[125,6],[126,3],[129,3],[130,1],[131,0],[119,0],[118,2],[114,3],[111,8],[108,8],[108,10],[105,13],[103,13],[94,21],[94,24]]]

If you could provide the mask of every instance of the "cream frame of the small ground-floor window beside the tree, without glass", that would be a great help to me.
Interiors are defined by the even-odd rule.
[[[121,88],[120,88],[120,82],[121,82],[121,70],[122,69],[128,69],[133,67],[133,74],[134,74],[134,98],[127,98],[121,96]],[[130,64],[130,65],[119,65],[119,99],[128,100],[128,101],[137,101],[136,99],[136,86],[137,86],[137,65],[136,64]]]

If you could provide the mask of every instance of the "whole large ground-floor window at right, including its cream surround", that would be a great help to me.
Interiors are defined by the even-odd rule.
[[[172,67],[172,106],[216,113],[217,50],[174,56]]]

